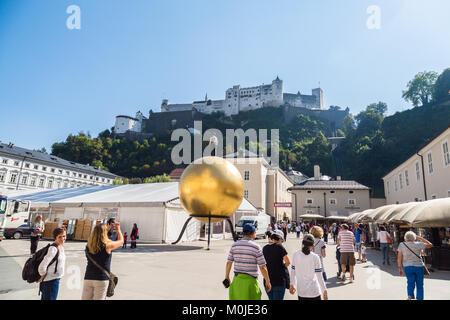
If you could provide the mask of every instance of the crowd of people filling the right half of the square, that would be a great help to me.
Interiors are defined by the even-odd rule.
[[[301,240],[301,249],[289,259],[283,246],[289,232],[295,232]],[[327,300],[327,274],[323,259],[326,257],[328,237],[336,244],[338,264],[337,277],[343,283],[355,280],[356,262],[367,262],[366,250],[369,241],[377,241],[381,249],[382,264],[390,265],[389,248],[392,245],[390,233],[380,226],[377,236],[371,239],[367,225],[337,224],[313,225],[304,222],[280,221],[268,225],[268,244],[262,249],[254,242],[255,228],[252,224],[243,227],[244,238],[231,247],[226,264],[225,279],[229,284],[230,300],[259,300],[257,278],[258,268],[264,277],[264,286],[269,300],[283,300],[285,290],[297,294],[299,300]],[[425,264],[421,253],[432,244],[409,231],[405,241],[397,248],[397,263],[400,276],[407,278],[408,299],[423,300],[423,279]],[[355,257],[357,253],[357,258]],[[230,272],[234,263],[235,277],[230,283]],[[289,274],[288,267],[291,266]],[[242,281],[246,277],[247,281]],[[250,281],[251,280],[251,281]],[[226,286],[227,287],[227,286]],[[417,294],[415,295],[415,290]]]

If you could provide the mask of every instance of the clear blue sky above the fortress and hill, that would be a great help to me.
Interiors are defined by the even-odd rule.
[[[81,29],[69,30],[70,5]],[[380,9],[369,29],[368,7]],[[37,149],[161,100],[270,83],[358,113],[450,67],[448,0],[0,0],[0,140]],[[372,20],[371,20],[372,21]]]

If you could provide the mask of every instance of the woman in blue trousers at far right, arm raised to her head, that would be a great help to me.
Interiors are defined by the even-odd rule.
[[[419,241],[417,241],[419,240]],[[425,265],[421,258],[422,250],[430,249],[433,244],[428,240],[417,236],[414,232],[405,233],[405,242],[398,246],[397,265],[400,276],[407,279],[408,299],[414,299],[414,289],[417,290],[417,300],[424,299],[423,277]]]

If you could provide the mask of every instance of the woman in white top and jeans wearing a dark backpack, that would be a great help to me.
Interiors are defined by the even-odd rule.
[[[64,265],[66,264],[66,255],[63,244],[66,242],[66,229],[56,228],[53,231],[55,242],[48,248],[42,262],[39,264],[38,272],[41,278],[39,282],[39,291],[42,293],[42,300],[56,300],[59,291],[59,279],[64,275]],[[53,259],[58,255],[58,258]]]

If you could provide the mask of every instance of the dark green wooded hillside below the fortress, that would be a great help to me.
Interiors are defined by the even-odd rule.
[[[318,164],[322,173],[356,180],[371,187],[373,196],[383,197],[381,178],[450,124],[449,92],[450,68],[440,75],[418,73],[402,93],[415,108],[386,117],[388,106],[378,102],[355,117],[348,114],[344,128],[337,130],[345,140],[333,153],[326,139],[331,135],[330,123],[303,114],[285,123],[281,108],[241,112],[232,119],[209,115],[203,119],[202,130],[219,129],[225,137],[226,129],[279,129],[282,169],[292,167],[312,176],[313,166]],[[66,141],[53,144],[52,154],[139,181],[170,173],[175,168],[171,151],[177,143],[171,141],[170,133],[130,141],[105,130],[97,138],[83,133],[69,135]],[[228,143],[225,141],[224,149]]]

